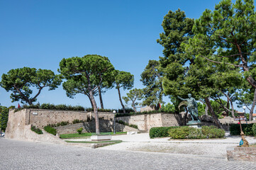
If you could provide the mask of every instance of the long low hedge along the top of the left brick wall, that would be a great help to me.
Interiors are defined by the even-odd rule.
[[[42,105],[23,105],[21,108],[16,108],[15,112],[21,111],[23,108],[38,108],[38,109],[50,109],[50,110],[61,110],[61,111],[84,111],[84,107],[82,106],[70,106],[70,105],[54,105],[50,103],[43,103]]]

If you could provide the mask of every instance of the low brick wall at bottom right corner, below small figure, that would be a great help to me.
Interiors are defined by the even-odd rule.
[[[228,147],[228,161],[256,162],[256,147]]]

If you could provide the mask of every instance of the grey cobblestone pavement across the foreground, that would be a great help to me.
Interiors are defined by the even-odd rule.
[[[255,163],[152,152],[111,151],[0,137],[0,169],[256,169]]]

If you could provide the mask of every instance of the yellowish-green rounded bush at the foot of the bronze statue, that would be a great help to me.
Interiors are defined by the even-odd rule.
[[[169,136],[172,139],[221,138],[225,136],[225,130],[218,129],[215,126],[202,126],[201,129],[182,126],[169,130]]]

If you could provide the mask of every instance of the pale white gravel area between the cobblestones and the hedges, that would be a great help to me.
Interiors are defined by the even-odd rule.
[[[250,144],[256,143],[255,137],[246,137],[246,139]],[[89,139],[75,140],[88,141]],[[112,140],[123,140],[123,142],[99,149],[192,154],[226,159],[226,148],[238,146],[241,138],[227,134],[225,139],[169,140],[169,137],[150,139],[148,133],[140,133],[137,135],[116,135],[112,136]]]

